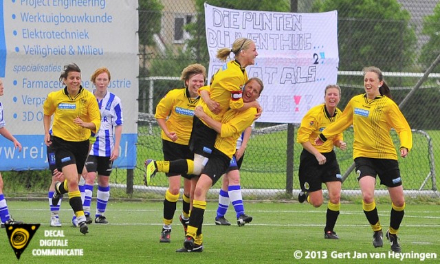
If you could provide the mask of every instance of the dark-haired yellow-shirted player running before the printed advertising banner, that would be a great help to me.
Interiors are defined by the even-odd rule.
[[[68,192],[69,203],[78,219],[80,232],[87,234],[89,228],[78,181],[89,152],[91,132],[96,133],[99,130],[100,111],[95,96],[81,85],[81,70],[78,65],[65,65],[59,80],[65,87],[48,94],[43,104],[44,142],[46,146],[52,144],[56,167],[65,177],[63,183],[55,185],[52,204],[58,204],[61,195]],[[52,115],[54,121],[50,135]]]

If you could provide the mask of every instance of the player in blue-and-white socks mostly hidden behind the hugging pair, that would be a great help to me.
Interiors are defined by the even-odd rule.
[[[243,157],[245,155],[245,149],[248,146],[248,140],[252,133],[252,126],[248,126],[243,133],[241,133],[239,139],[236,141],[236,151],[232,157],[231,164],[226,170],[226,174],[223,177],[221,183],[221,189],[219,193],[219,207],[217,208],[217,216],[214,223],[216,225],[231,225],[231,223],[225,219],[225,214],[228,211],[229,204],[232,203],[236,213],[236,223],[239,226],[243,226],[246,223],[252,221],[252,217],[245,214],[245,208],[243,205],[243,196],[241,195],[240,186],[240,167],[243,163]]]

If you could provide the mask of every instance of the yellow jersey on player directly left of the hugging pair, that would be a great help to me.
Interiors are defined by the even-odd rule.
[[[199,97],[190,98],[187,88],[173,89],[162,98],[157,104],[155,118],[166,119],[165,124],[168,131],[177,133],[175,143],[188,145],[192,130],[192,118],[194,109],[199,103]],[[162,139],[170,140],[162,131]]]

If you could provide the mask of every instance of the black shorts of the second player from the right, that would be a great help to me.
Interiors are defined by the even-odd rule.
[[[300,168],[298,177],[300,187],[303,191],[314,192],[322,189],[322,183],[329,181],[342,182],[341,171],[334,151],[321,153],[327,161],[325,164],[318,164],[316,157],[303,149],[300,155]]]

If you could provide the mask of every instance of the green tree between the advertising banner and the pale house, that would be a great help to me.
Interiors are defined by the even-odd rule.
[[[164,6],[159,0],[139,0],[139,43],[155,45],[153,35],[160,32]]]

